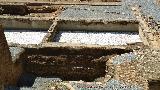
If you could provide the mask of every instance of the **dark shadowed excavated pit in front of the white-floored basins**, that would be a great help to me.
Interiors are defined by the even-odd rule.
[[[47,53],[46,53],[47,52]],[[67,81],[94,81],[107,73],[110,56],[132,52],[130,49],[39,48],[26,49],[24,72],[38,77],[59,77]]]

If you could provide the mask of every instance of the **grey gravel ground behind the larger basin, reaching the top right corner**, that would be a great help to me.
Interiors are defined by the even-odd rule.
[[[58,17],[63,20],[136,20],[131,7],[141,6],[145,16],[152,16],[154,21],[160,21],[160,7],[155,0],[122,0],[122,6],[65,6]]]

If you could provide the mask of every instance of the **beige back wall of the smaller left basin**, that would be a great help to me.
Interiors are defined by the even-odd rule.
[[[33,20],[32,20],[33,19]],[[45,29],[52,24],[52,20],[34,20],[34,18],[0,17],[0,23],[5,29]]]

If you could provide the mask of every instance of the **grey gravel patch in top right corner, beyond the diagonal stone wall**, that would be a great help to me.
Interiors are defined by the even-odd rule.
[[[123,0],[123,6],[139,5],[143,16],[152,17],[153,21],[160,22],[160,6],[156,0]]]

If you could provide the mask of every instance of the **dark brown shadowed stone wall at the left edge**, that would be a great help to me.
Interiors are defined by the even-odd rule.
[[[0,85],[16,84],[21,66],[13,64],[2,26],[0,26]]]

